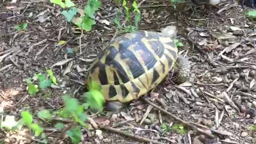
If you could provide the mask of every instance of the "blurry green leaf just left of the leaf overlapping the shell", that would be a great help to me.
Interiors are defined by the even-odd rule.
[[[68,95],[64,95],[62,99],[65,102],[65,108],[69,113],[71,114],[77,113],[77,110],[79,108],[77,99],[70,98]]]

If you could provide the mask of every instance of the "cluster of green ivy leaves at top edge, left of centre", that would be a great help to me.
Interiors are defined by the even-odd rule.
[[[84,7],[84,10],[78,9],[70,0],[50,0],[51,3],[60,5],[63,9],[61,14],[64,15],[68,22],[72,22],[79,29],[91,31],[92,26],[96,24],[94,20],[95,12],[99,10],[101,2],[97,0],[89,0]],[[79,17],[77,15],[79,13]]]

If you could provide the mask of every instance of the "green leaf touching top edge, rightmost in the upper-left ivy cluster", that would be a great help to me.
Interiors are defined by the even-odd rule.
[[[101,3],[97,0],[89,0],[84,7],[84,12],[89,15],[90,18],[94,19],[94,13],[100,8]]]

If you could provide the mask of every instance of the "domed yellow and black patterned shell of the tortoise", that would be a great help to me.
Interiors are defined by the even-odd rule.
[[[163,33],[127,33],[97,55],[86,80],[97,82],[107,101],[129,102],[161,83],[177,53],[173,39]]]

